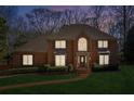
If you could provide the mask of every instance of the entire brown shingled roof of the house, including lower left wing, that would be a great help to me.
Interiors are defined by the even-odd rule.
[[[94,27],[83,24],[71,24],[61,27],[57,33],[40,35],[39,37],[30,40],[29,42],[21,46],[16,51],[25,52],[44,52],[46,51],[46,39],[66,39],[73,40],[80,34],[85,34],[91,39],[115,39],[110,35],[103,33]]]

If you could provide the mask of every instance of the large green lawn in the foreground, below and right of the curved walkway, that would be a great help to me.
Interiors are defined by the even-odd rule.
[[[1,81],[1,79],[0,79]],[[117,72],[92,73],[86,79],[61,85],[44,85],[4,90],[0,93],[133,93],[134,66],[120,66]]]

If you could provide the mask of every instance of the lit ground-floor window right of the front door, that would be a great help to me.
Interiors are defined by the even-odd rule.
[[[109,64],[109,54],[99,54],[99,65]]]

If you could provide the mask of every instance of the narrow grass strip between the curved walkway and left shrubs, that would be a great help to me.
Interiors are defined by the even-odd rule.
[[[25,74],[13,77],[0,78],[0,87],[25,84],[25,83],[35,83],[35,81],[44,81],[44,80],[55,80],[55,79],[68,79],[75,77],[73,74],[69,75],[40,75],[40,74]]]

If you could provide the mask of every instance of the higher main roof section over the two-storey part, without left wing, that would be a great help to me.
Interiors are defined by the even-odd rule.
[[[76,39],[80,34],[84,34],[91,39],[115,39],[97,28],[83,24],[65,25],[58,33],[52,34],[49,39]]]

